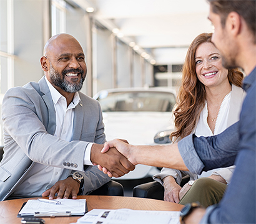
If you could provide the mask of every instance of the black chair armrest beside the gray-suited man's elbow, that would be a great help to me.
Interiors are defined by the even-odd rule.
[[[111,180],[89,195],[124,196],[124,187],[122,187],[122,184]]]

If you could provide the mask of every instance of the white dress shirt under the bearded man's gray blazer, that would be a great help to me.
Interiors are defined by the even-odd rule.
[[[73,136],[74,108],[80,101],[79,94],[76,92],[72,102],[67,106],[67,100],[59,91],[51,85],[46,78],[47,85],[51,91],[54,109],[56,111],[56,131],[54,136],[70,142]],[[84,164],[92,165],[91,157],[92,143],[87,145],[84,154]],[[56,149],[57,153],[57,149]],[[46,161],[47,162],[47,161]],[[36,163],[33,169],[27,174],[27,178],[17,187],[16,195],[41,195],[42,192],[51,188],[57,181],[64,180],[71,173],[70,169],[47,166]]]

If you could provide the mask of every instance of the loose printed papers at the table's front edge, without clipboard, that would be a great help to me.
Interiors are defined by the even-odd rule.
[[[179,224],[180,212],[144,211],[131,209],[94,209],[79,218],[76,224]],[[71,223],[75,224],[75,223]]]

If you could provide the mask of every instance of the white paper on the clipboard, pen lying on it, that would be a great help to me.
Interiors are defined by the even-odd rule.
[[[34,216],[36,213],[46,216],[62,216],[65,213],[84,215],[86,212],[86,199],[58,199],[57,201],[61,202],[61,204],[54,205],[52,203],[40,202],[39,200],[28,200],[19,212],[19,215]]]

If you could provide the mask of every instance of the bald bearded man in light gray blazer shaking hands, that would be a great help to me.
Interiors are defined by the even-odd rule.
[[[79,91],[87,72],[79,42],[68,34],[51,37],[41,66],[45,76],[38,83],[11,88],[4,96],[0,200],[52,199],[56,193],[76,198],[79,189],[89,194],[110,180],[93,163],[116,177],[134,169],[115,148],[106,156],[100,152],[106,141],[102,111]]]

